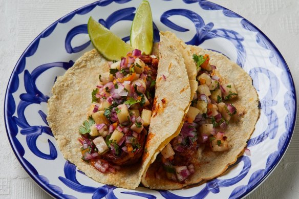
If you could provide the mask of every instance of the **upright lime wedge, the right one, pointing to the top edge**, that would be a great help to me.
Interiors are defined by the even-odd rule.
[[[143,0],[131,27],[131,46],[149,55],[153,49],[153,17],[150,4]]]

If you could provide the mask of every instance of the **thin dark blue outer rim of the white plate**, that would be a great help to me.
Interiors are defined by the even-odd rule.
[[[200,2],[200,0],[194,0],[194,2]],[[208,2],[208,1],[205,1],[205,2]],[[48,31],[51,31],[52,29],[54,30],[56,25],[59,23],[59,21],[61,21],[62,19],[66,19],[66,20],[71,20],[73,18],[74,15],[76,14],[80,14],[81,11],[84,11],[84,10],[88,10],[89,12],[91,10],[93,10],[96,6],[98,6],[97,4],[98,3],[103,3],[105,4],[105,0],[99,0],[97,2],[94,2],[94,3],[91,3],[91,4],[88,4],[86,6],[83,6],[81,8],[78,8],[68,14],[66,14],[65,16],[62,16],[61,18],[59,18],[58,20],[56,20],[53,24],[51,24],[49,27],[47,27],[44,31],[42,31],[31,43],[30,45],[26,48],[26,50],[23,52],[23,54],[20,56],[20,58],[18,59],[11,75],[10,75],[10,78],[9,78],[9,81],[8,81],[8,85],[7,85],[7,89],[6,89],[6,93],[5,93],[5,101],[4,101],[4,121],[5,121],[5,128],[6,128],[6,132],[7,132],[7,136],[9,138],[9,143],[12,147],[12,150],[17,158],[17,160],[19,161],[19,163],[22,165],[22,167],[25,169],[25,171],[29,174],[29,176],[31,177],[31,179],[40,187],[42,188],[43,190],[45,190],[48,194],[50,194],[51,196],[53,197],[60,197],[61,198],[61,195],[55,191],[53,191],[52,189],[49,188],[49,186],[45,186],[44,183],[42,183],[42,181],[40,179],[38,179],[36,177],[36,175],[30,170],[29,166],[27,165],[27,163],[23,160],[20,159],[20,154],[19,154],[19,151],[16,150],[16,146],[15,144],[13,143],[12,141],[12,137],[11,137],[11,131],[9,130],[9,122],[8,122],[8,112],[7,112],[7,106],[8,106],[8,94],[12,94],[14,92],[10,92],[10,89],[11,89],[11,84],[12,84],[12,77],[13,75],[17,74],[16,70],[20,67],[20,60],[26,58],[26,54],[28,52],[30,52],[31,48],[34,47],[34,43],[35,42],[39,42],[39,39],[42,38],[42,35],[47,33]],[[109,3],[110,4],[110,3]],[[289,74],[289,80],[290,80],[290,87],[291,89],[293,90],[293,94],[294,94],[294,97],[293,97],[293,100],[295,102],[294,104],[294,107],[297,107],[297,99],[296,99],[296,91],[295,91],[295,86],[294,86],[294,81],[293,81],[293,77],[290,73],[290,70],[289,70],[289,67],[284,59],[284,57],[282,56],[282,54],[280,53],[280,51],[276,48],[276,46],[274,45],[274,43],[257,27],[255,27],[250,21],[248,21],[247,19],[245,19],[244,17],[242,17],[241,15],[223,7],[223,6],[220,6],[218,4],[214,4],[212,3],[213,5],[216,5],[217,7],[221,8],[222,10],[227,10],[227,11],[230,11],[231,13],[233,14],[236,14],[236,16],[238,16],[238,18],[242,18],[246,21],[246,23],[248,23],[250,26],[252,26],[258,33],[260,33],[264,39],[266,39],[268,42],[269,42],[269,45],[271,45],[273,47],[273,51],[275,51],[277,53],[277,55],[279,56],[279,58],[281,59],[282,61],[282,65],[284,66],[284,68],[286,69],[287,73]],[[84,13],[83,13],[84,14]],[[63,23],[63,22],[62,22]],[[53,31],[52,30],[52,31]],[[51,31],[51,32],[52,32]],[[32,55],[30,55],[32,56]],[[28,56],[28,57],[30,57]],[[23,71],[22,71],[23,72]],[[21,72],[21,73],[22,73]],[[18,74],[17,74],[18,75]],[[13,114],[12,114],[13,115]],[[293,131],[294,131],[294,127],[295,127],[295,123],[296,123],[296,116],[297,116],[297,108],[294,108],[294,113],[293,113],[293,119],[294,119],[294,122],[292,123],[292,125],[290,126],[289,129],[287,129],[287,138],[285,140],[285,143],[282,147],[282,149],[279,151],[281,154],[280,156],[278,157],[278,159],[272,163],[271,166],[269,166],[269,168],[267,169],[267,172],[266,174],[264,174],[263,178],[261,178],[259,181],[257,181],[254,185],[252,185],[251,187],[249,187],[246,192],[244,192],[243,194],[239,195],[239,198],[242,198],[246,195],[248,195],[250,192],[252,192],[254,189],[256,189],[259,185],[262,184],[262,182],[269,176],[270,173],[272,173],[272,171],[275,169],[275,167],[280,163],[280,161],[282,160],[289,144],[290,144],[290,141],[291,141],[291,138],[293,136]],[[248,186],[248,185],[247,185]]]

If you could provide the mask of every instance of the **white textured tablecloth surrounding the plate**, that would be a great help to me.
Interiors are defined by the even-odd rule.
[[[0,0],[0,109],[9,76],[29,43],[45,28],[67,13],[92,3],[89,0]],[[153,0],[152,0],[153,2]],[[251,21],[261,29],[286,59],[299,91],[299,1],[211,0]],[[298,92],[299,93],[299,92]],[[297,93],[297,97],[298,97]],[[0,114],[0,198],[51,198],[20,166],[9,145]],[[299,198],[299,122],[291,144],[276,169],[250,198]]]

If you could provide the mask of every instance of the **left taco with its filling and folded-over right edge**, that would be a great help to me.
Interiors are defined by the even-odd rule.
[[[138,187],[159,147],[180,130],[190,104],[184,59],[175,53],[170,67],[157,70],[158,59],[139,50],[116,63],[92,50],[58,77],[47,120],[63,157],[95,181]],[[145,144],[146,137],[152,142]]]

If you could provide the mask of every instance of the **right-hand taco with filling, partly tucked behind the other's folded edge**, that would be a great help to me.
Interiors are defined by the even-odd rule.
[[[173,33],[161,36],[160,49],[172,54],[169,46],[191,50],[198,86],[181,130],[165,139],[142,176],[151,189],[181,189],[219,176],[237,161],[259,117],[257,92],[239,65],[220,53],[185,47]]]

